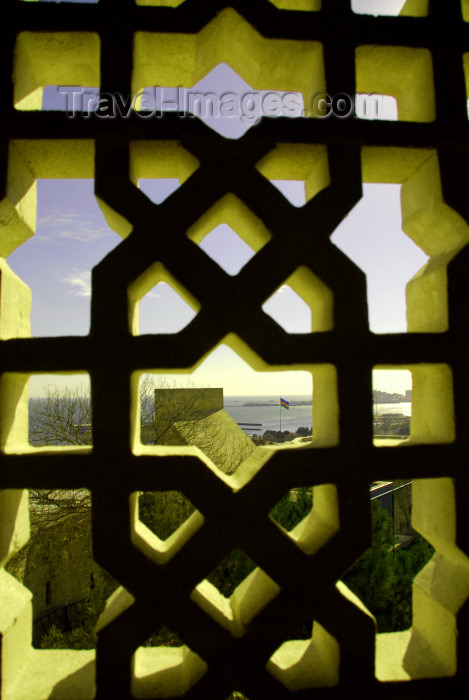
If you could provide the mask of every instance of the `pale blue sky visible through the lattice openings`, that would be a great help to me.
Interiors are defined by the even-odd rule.
[[[392,9],[399,11],[402,4],[400,0],[356,0],[352,7],[357,12],[379,8],[385,13],[392,12]],[[250,90],[249,85],[226,64],[218,66],[194,87],[200,91],[238,94]],[[64,96],[54,88],[47,89],[44,108],[64,109]],[[239,138],[250,128],[249,124],[233,118],[207,121],[220,131],[224,121],[227,124],[223,124],[227,129],[225,134],[230,138]],[[276,184],[295,206],[304,203],[304,183]],[[161,201],[178,186],[178,182],[142,181],[140,185],[151,199]],[[107,226],[97,205],[93,181],[38,182],[36,234],[8,259],[12,269],[33,290],[31,324],[34,336],[88,333],[91,269],[120,240]],[[365,185],[363,199],[335,231],[332,241],[367,273],[371,329],[379,333],[405,331],[405,284],[426,258],[401,231],[399,186]],[[254,254],[226,224],[212,231],[201,247],[228,274],[237,274],[248,256]],[[290,288],[284,286],[278,290],[264,310],[289,332],[308,332],[310,329],[309,309]],[[140,304],[140,333],[174,333],[192,316],[193,311],[171,287],[159,284]],[[208,364],[208,367],[197,370],[192,381],[224,386],[226,394],[299,394],[308,393],[311,388],[309,374],[285,375],[283,380],[279,379],[278,373],[273,377],[265,373],[251,374],[242,369],[243,361],[233,357],[229,348],[220,348]],[[182,383],[187,383],[187,380],[186,375]],[[60,381],[69,379],[63,377]],[[36,387],[39,383],[39,378],[33,382]],[[394,372],[387,381],[385,376],[382,377],[379,388],[403,391],[409,386],[408,373]]]

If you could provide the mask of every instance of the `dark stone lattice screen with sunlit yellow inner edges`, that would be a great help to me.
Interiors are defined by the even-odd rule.
[[[468,3],[414,0],[399,18],[356,15],[346,0],[173,5],[0,8],[1,254],[34,232],[41,177],[94,177],[123,238],[93,270],[87,337],[29,338],[28,290],[2,262],[1,563],[28,538],[22,489],[87,487],[94,557],[122,588],[96,652],[36,650],[30,595],[2,570],[1,697],[460,697],[469,653]],[[220,61],[253,89],[299,91],[307,105],[325,89],[394,95],[399,122],[264,119],[234,141],[176,114],[39,111],[47,84],[126,96],[190,87]],[[156,206],[139,177],[183,184]],[[291,206],[269,178],[306,180],[309,201]],[[329,241],[362,182],[402,183],[403,227],[430,256],[408,288],[408,333],[368,330],[364,275]],[[197,245],[220,221],[257,251],[234,277]],[[198,313],[174,336],[138,337],[137,302],[160,280]],[[311,334],[288,335],[261,310],[285,280],[313,310]],[[313,373],[310,447],[261,451],[220,478],[191,448],[139,444],[139,373],[191,368],[221,341],[257,370]],[[375,366],[412,371],[412,436],[397,450],[372,444]],[[26,382],[41,372],[90,374],[92,448],[29,447]],[[414,584],[412,628],[376,635],[337,581],[370,543],[370,484],[402,478],[414,480],[413,524],[436,552]],[[315,487],[314,508],[289,538],[268,512],[302,485]],[[199,511],[165,543],[141,527],[131,498],[163,489]],[[260,569],[226,603],[198,584],[235,548]],[[282,646],[305,621],[312,639]],[[187,646],[142,648],[162,622]]]

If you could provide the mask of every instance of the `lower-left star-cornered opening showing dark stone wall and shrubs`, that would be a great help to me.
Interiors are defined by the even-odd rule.
[[[87,489],[30,489],[30,538],[6,570],[32,595],[36,649],[93,649],[94,629],[117,588],[93,559]]]

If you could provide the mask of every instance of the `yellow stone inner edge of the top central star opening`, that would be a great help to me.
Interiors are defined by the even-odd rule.
[[[231,41],[237,35],[243,41]],[[246,42],[250,61],[245,60]],[[201,46],[206,50],[196,50]],[[149,85],[190,88],[223,62],[256,91],[271,89],[275,75],[276,90],[302,93],[305,104],[325,88],[319,42],[267,39],[232,8],[223,9],[197,34],[137,31],[133,56],[132,94]]]

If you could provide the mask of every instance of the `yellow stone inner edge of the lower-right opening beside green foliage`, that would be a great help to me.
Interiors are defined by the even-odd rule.
[[[469,595],[469,559],[456,544],[454,497],[452,479],[412,481],[412,527],[435,553],[414,579],[412,627],[377,635],[380,681],[456,673],[456,615]]]

